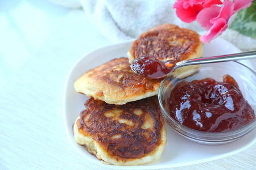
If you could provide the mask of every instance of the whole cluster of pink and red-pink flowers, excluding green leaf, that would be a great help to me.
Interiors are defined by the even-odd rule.
[[[229,18],[242,8],[247,8],[253,0],[177,0],[173,8],[183,22],[196,20],[207,32],[200,37],[203,43],[220,36],[228,28]],[[221,5],[222,6],[218,6]]]

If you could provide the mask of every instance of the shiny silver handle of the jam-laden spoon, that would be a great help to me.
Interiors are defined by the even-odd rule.
[[[197,65],[201,63],[237,61],[237,60],[251,59],[251,58],[256,58],[256,51],[236,53],[236,54],[226,54],[222,56],[193,58],[193,59],[177,62],[176,66],[179,67],[179,65],[188,66],[188,65]]]

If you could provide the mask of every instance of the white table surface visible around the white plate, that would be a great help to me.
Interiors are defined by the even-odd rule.
[[[6,24],[0,28],[0,169],[102,169],[69,142],[63,92],[77,59],[112,43],[82,10],[42,1],[9,4],[0,8]],[[256,69],[255,59],[251,63]],[[256,143],[236,155],[171,169],[256,169],[255,154]]]

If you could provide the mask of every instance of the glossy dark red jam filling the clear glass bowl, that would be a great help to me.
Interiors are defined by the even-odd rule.
[[[254,111],[236,81],[229,75],[223,81],[206,78],[178,83],[168,95],[171,117],[188,128],[208,132],[231,131],[253,121]]]

